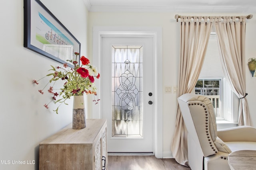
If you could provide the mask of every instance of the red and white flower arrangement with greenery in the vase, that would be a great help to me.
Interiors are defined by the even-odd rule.
[[[45,78],[50,76],[51,79],[46,84],[46,86],[44,86],[42,90],[38,90],[38,92],[44,94],[44,90],[46,89],[46,87],[50,86],[49,84],[54,82],[53,85],[48,88],[48,92],[53,95],[50,102],[54,102],[54,104],[60,103],[61,105],[63,103],[66,104],[65,101],[67,99],[70,99],[71,96],[94,94],[93,101],[95,102],[95,104],[97,104],[99,99],[95,99],[95,96],[97,96],[97,89],[94,85],[94,78],[100,78],[100,73],[98,73],[96,67],[89,65],[89,59],[84,56],[80,57],[82,65],[79,66],[77,62],[77,57],[79,53],[74,54],[76,55],[76,61],[67,60],[68,62],[74,64],[74,68],[69,68],[68,63],[64,63],[63,67],[57,66],[56,68],[51,65],[52,69],[49,70],[51,71],[51,73],[43,77]],[[34,84],[39,84],[39,80],[33,80]],[[54,89],[54,84],[57,81],[63,82],[62,88]],[[50,102],[48,104],[44,104],[44,107],[48,109],[48,105],[50,104]],[[54,110],[57,114],[60,105],[56,108],[56,110]]]

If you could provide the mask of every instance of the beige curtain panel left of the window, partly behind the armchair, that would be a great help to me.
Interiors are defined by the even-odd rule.
[[[178,97],[191,93],[199,78],[212,29],[210,22],[202,17],[180,17],[180,71],[178,81]],[[177,110],[176,130],[172,143],[172,155],[175,160],[188,166],[187,132],[180,107]]]

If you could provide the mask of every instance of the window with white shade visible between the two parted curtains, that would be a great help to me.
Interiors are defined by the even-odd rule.
[[[212,101],[217,120],[238,122],[238,98],[224,78],[216,33],[211,33],[195,93]]]

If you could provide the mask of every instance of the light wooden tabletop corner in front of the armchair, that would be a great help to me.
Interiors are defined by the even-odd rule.
[[[238,150],[228,155],[231,170],[255,170],[256,150]]]

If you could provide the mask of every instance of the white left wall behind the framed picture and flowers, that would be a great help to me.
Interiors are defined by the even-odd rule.
[[[41,0],[48,9],[80,41],[81,53],[87,54],[88,11],[83,0]],[[72,104],[61,107],[57,115],[43,105],[48,93],[41,95],[44,80],[32,83],[60,63],[23,47],[23,0],[0,2],[0,169],[38,169],[39,143],[72,122]],[[40,86],[41,85],[41,86]],[[71,102],[72,103],[72,102]],[[4,161],[10,164],[4,165]],[[12,161],[33,161],[35,164],[12,164]]]

